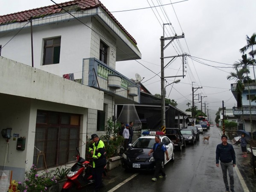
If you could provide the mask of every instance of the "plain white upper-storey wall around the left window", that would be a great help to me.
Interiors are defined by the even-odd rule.
[[[83,18],[81,21],[91,27],[90,18]],[[34,67],[58,76],[74,73],[75,79],[81,79],[82,59],[90,58],[91,29],[87,26],[81,25],[77,20],[34,26]],[[5,45],[16,33],[17,31],[1,33],[0,45]],[[54,37],[61,37],[60,63],[42,65],[44,39]],[[32,66],[30,28],[22,29],[3,47],[1,56]]]

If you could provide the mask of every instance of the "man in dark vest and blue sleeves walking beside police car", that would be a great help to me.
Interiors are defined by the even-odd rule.
[[[153,148],[151,148],[151,150],[148,152],[148,156],[150,156],[150,154],[154,152],[153,157],[155,160],[156,170],[154,172],[154,177],[151,179],[153,181],[157,181],[159,173],[162,174],[159,176],[160,178],[166,177],[166,174],[163,171],[162,167],[162,162],[164,162],[164,153],[166,154],[166,160],[169,160],[169,155],[166,146],[161,142],[159,136],[155,137],[155,142],[156,143],[154,144]]]

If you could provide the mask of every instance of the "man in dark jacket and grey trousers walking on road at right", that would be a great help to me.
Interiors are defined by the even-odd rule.
[[[233,146],[227,143],[226,135],[221,136],[221,141],[222,143],[218,144],[216,148],[216,166],[219,167],[219,160],[220,160],[226,192],[229,192],[229,186],[227,181],[227,171],[230,177],[230,190],[231,192],[234,192],[233,167],[236,166],[236,153]]]

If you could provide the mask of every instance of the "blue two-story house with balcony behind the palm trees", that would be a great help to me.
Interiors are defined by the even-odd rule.
[[[237,107],[233,107],[233,114],[238,118],[239,129],[243,128],[247,132],[256,132],[256,102],[249,100],[256,96],[256,83],[244,84],[244,90],[242,94],[236,91],[236,84],[231,84],[231,91],[237,101]],[[252,124],[252,126],[251,126]]]

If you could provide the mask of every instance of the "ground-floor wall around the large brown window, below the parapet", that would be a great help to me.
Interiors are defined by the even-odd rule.
[[[87,135],[87,108],[71,105],[63,105],[53,102],[46,102],[37,99],[30,99],[7,94],[0,94],[0,122],[3,128],[12,128],[12,138],[7,142],[0,137],[0,169],[13,171],[13,179],[23,180],[24,172],[28,171],[33,163],[36,114],[38,110],[58,111],[65,113],[81,114],[80,122],[80,148],[81,156],[85,156],[85,145]],[[16,150],[17,138],[26,137],[25,150]],[[6,160],[6,163],[4,163]]]

